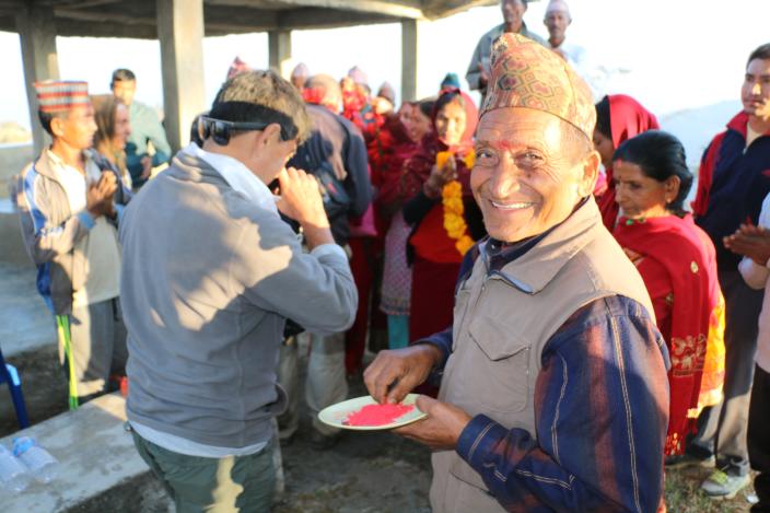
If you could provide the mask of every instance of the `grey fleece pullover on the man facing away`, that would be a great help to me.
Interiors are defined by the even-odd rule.
[[[120,242],[129,420],[213,446],[268,441],[287,317],[314,333],[353,323],[343,253],[303,254],[275,212],[185,152],[126,209]]]

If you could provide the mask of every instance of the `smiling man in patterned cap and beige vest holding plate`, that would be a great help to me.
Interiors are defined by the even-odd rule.
[[[516,34],[490,84],[470,178],[489,237],[465,257],[454,324],[383,351],[366,386],[384,403],[441,377],[418,399],[428,417],[396,430],[434,448],[435,512],[654,512],[668,357],[592,197],[591,93]]]

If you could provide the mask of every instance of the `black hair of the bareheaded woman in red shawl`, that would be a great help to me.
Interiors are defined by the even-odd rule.
[[[684,215],[685,199],[692,187],[692,173],[687,167],[685,147],[679,139],[662,130],[648,130],[621,143],[612,155],[612,162],[617,160],[637,164],[645,176],[661,183],[678,176],[679,194],[666,208]]]

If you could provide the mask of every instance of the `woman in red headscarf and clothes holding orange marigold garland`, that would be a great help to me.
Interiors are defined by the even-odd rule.
[[[446,90],[435,102],[432,121],[433,130],[407,162],[402,180],[402,196],[412,198],[402,210],[412,226],[407,248],[412,261],[410,340],[452,324],[459,264],[483,234],[469,186],[476,105],[459,90]]]

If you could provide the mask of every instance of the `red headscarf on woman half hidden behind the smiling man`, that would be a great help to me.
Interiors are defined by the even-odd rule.
[[[609,124],[612,132],[612,147],[617,149],[627,139],[631,139],[648,130],[661,128],[655,115],[625,94],[614,94],[609,96]],[[604,225],[610,232],[615,228],[618,219],[619,207],[615,201],[615,182],[612,180],[612,167],[605,170],[607,177],[607,189],[597,199]]]

